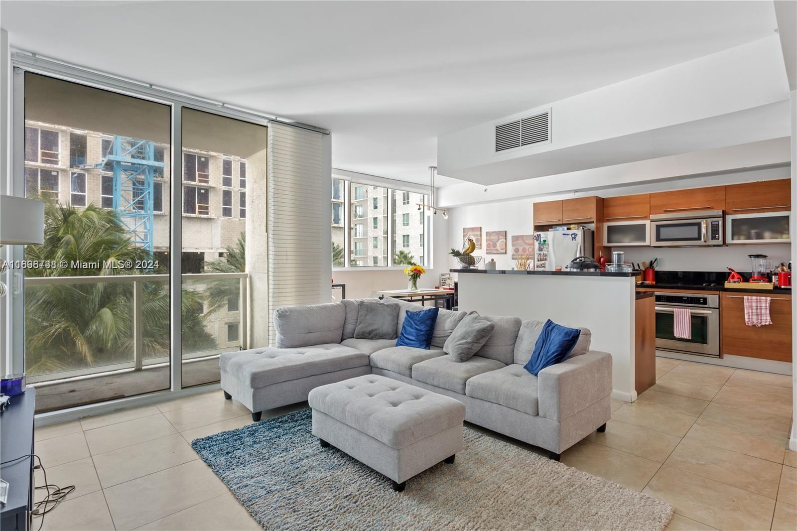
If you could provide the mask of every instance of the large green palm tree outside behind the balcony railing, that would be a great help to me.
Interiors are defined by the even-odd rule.
[[[29,277],[146,275],[147,269],[120,269],[127,260],[148,261],[115,211],[84,209],[45,201],[45,238],[26,248],[26,259],[52,261],[49,269],[28,269]],[[78,266],[78,263],[86,265]],[[144,357],[169,352],[169,292],[163,281],[143,282]],[[215,341],[195,309],[202,295],[183,290],[183,347],[213,348]],[[32,285],[26,288],[26,360],[30,375],[132,360],[132,283]]]

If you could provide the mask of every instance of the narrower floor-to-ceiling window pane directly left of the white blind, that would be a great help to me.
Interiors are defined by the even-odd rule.
[[[218,381],[218,355],[249,344],[249,289],[267,273],[266,130],[183,109],[183,387]]]

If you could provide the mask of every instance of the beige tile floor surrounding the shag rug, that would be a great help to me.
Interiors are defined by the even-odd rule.
[[[668,529],[797,529],[791,378],[665,358],[657,377],[562,461],[669,501]],[[260,529],[190,447],[250,422],[213,391],[38,429],[49,482],[77,486],[42,529]]]

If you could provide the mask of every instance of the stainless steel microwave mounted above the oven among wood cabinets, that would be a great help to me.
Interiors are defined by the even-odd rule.
[[[724,245],[722,210],[651,214],[650,245],[654,247]]]

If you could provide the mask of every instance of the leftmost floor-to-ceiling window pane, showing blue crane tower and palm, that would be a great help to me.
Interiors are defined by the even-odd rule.
[[[45,202],[25,256],[37,411],[170,387],[170,113],[26,73],[25,192]]]

